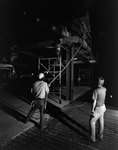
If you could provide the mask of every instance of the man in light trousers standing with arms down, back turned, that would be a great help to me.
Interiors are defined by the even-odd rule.
[[[104,112],[106,111],[105,107],[105,98],[107,89],[103,87],[104,79],[99,77],[98,87],[93,92],[93,105],[91,110],[90,117],[90,140],[92,142],[96,141],[96,121],[99,122],[99,131],[98,137],[100,140],[103,139],[103,131],[104,131]]]

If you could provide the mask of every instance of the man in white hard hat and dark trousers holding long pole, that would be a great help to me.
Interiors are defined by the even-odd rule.
[[[39,74],[39,81],[36,81],[31,88],[31,93],[35,96],[35,100],[31,103],[31,109],[27,115],[26,123],[31,119],[35,110],[37,108],[40,109],[40,122],[38,123],[38,127],[43,129],[44,127],[44,110],[47,104],[47,95],[49,94],[49,85],[43,81],[44,74]]]

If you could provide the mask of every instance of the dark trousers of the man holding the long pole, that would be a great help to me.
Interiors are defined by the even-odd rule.
[[[27,118],[26,118],[26,123],[31,119],[33,114],[35,113],[36,109],[40,110],[40,126],[44,126],[44,109],[45,109],[45,99],[36,99],[34,102],[34,106],[30,109]]]

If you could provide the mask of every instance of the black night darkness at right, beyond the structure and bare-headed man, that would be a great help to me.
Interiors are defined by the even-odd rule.
[[[98,74],[105,78],[106,103],[118,107],[118,2],[97,0],[91,11],[93,52],[99,57]]]

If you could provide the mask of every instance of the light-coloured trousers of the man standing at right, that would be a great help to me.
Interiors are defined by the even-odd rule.
[[[90,120],[89,120],[89,126],[90,126],[90,137],[92,139],[96,139],[96,122],[99,121],[98,126],[98,135],[102,138],[103,132],[104,132],[104,112],[106,111],[105,105],[101,107],[96,107],[93,114],[91,114]]]

